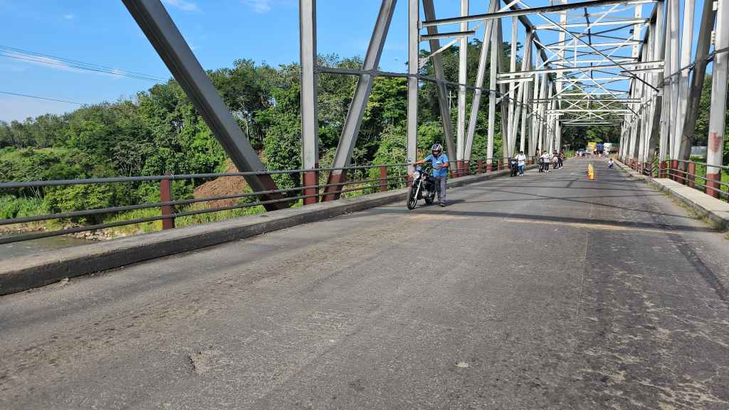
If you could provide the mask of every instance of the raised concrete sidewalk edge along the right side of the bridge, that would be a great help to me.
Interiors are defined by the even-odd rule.
[[[651,186],[666,192],[671,197],[676,198],[684,205],[689,206],[702,218],[709,219],[717,229],[729,229],[729,203],[717,200],[698,189],[690,188],[684,184],[679,184],[668,178],[649,178],[638,173],[623,164],[623,162],[615,161],[615,163],[629,176],[647,182]]]

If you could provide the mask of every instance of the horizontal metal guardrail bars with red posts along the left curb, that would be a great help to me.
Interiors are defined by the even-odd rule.
[[[534,158],[529,157],[528,162],[533,163]],[[508,158],[479,158],[472,159],[470,161],[450,161],[449,168],[451,170],[451,178],[457,178],[461,176],[469,176],[480,173],[488,173],[491,170],[502,170],[508,169],[509,159]],[[174,221],[176,218],[183,216],[194,216],[203,213],[217,213],[227,210],[235,210],[241,208],[253,208],[259,205],[268,205],[276,202],[287,202],[295,203],[300,200],[306,200],[307,198],[316,198],[316,202],[319,199],[324,200],[324,197],[330,197],[331,195],[339,196],[340,194],[346,194],[349,192],[362,192],[363,194],[372,192],[386,192],[391,188],[399,188],[407,186],[409,182],[409,175],[407,173],[407,163],[395,163],[395,164],[384,164],[384,165],[357,165],[351,167],[321,167],[310,170],[267,170],[261,172],[236,172],[236,173],[200,173],[200,174],[182,174],[182,175],[160,175],[160,176],[131,176],[131,177],[112,177],[112,178],[85,178],[85,179],[63,179],[53,181],[26,181],[26,182],[1,182],[0,192],[7,189],[23,189],[23,188],[41,188],[49,186],[70,186],[70,185],[82,185],[82,184],[124,184],[130,182],[142,182],[142,181],[159,181],[160,182],[160,201],[149,202],[137,205],[125,205],[116,206],[109,208],[93,208],[86,210],[75,210],[64,213],[48,213],[45,215],[37,216],[25,216],[21,218],[11,218],[0,220],[0,226],[8,226],[15,224],[28,224],[31,222],[60,220],[69,218],[80,218],[86,216],[98,216],[106,214],[121,213],[130,210],[140,210],[148,208],[160,208],[160,215],[158,216],[147,216],[144,218],[133,218],[123,221],[114,221],[104,224],[90,224],[83,226],[74,226],[66,229],[55,229],[44,232],[30,232],[21,234],[12,234],[7,237],[0,237],[0,245],[7,243],[16,243],[26,240],[35,240],[44,237],[54,237],[67,234],[76,234],[79,232],[95,231],[98,229],[113,228],[117,226],[142,224],[152,221],[163,221],[163,229],[174,228]],[[379,170],[379,178],[365,178],[367,172],[373,168]],[[388,176],[389,171],[397,169],[394,176]],[[352,173],[353,171],[362,171],[357,175],[350,175],[343,182],[330,183],[330,184],[316,184],[316,185],[304,185],[297,186],[289,189],[272,189],[268,191],[258,192],[241,192],[239,194],[228,194],[219,195],[215,197],[198,197],[190,198],[185,200],[174,200],[171,194],[171,182],[172,181],[183,181],[190,179],[212,179],[221,177],[243,177],[243,176],[261,176],[261,175],[292,175],[300,174],[304,175],[305,172],[316,172],[316,173],[331,173],[332,171],[340,170],[343,174],[347,172]],[[346,186],[354,186],[352,188],[346,188]],[[336,190],[328,191],[335,187]],[[324,192],[327,190],[326,192]],[[313,191],[313,193],[311,193]],[[369,191],[369,192],[368,192]],[[300,194],[295,196],[287,196],[280,199],[273,200],[260,200],[260,197],[270,194],[292,194],[298,192]],[[195,210],[176,210],[175,207],[182,207],[187,205],[193,205],[200,202],[213,202],[219,200],[239,200],[242,198],[259,197],[259,200],[254,202],[238,203],[235,205],[220,206],[214,208],[195,209]]]

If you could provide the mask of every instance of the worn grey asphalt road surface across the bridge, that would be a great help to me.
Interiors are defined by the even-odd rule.
[[[586,159],[0,298],[0,409],[729,409],[729,240]]]

